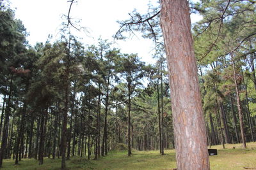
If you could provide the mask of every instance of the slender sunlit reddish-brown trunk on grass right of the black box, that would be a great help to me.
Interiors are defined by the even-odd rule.
[[[245,141],[245,135],[244,135],[243,113],[242,113],[242,108],[241,108],[241,104],[240,104],[240,96],[239,96],[237,77],[236,77],[237,75],[236,75],[236,69],[235,69],[235,64],[234,64],[232,53],[231,53],[231,57],[232,57],[232,67],[233,67],[233,74],[234,74],[234,83],[235,83],[235,88],[236,88],[236,101],[237,101],[237,109],[238,109],[238,115],[239,115],[241,137],[242,137],[243,147],[246,148],[246,141]]]

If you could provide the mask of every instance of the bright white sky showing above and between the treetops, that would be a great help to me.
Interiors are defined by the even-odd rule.
[[[128,13],[136,10],[146,13],[148,3],[157,4],[158,0],[79,0],[73,4],[71,17],[81,19],[80,25],[86,27],[89,34],[79,32],[84,44],[95,44],[101,36],[102,39],[113,41],[113,35],[119,29],[116,20],[126,20]],[[197,0],[195,0],[197,1]],[[67,15],[69,4],[67,0],[10,0],[11,7],[15,9],[15,16],[22,20],[29,32],[30,45],[43,42],[52,34],[58,38],[58,32],[63,20],[61,16]],[[191,22],[200,20],[200,16],[191,15]],[[140,35],[125,41],[116,41],[117,48],[122,53],[138,53],[138,57],[148,63],[153,63],[152,53],[154,43],[150,39],[143,39]]]

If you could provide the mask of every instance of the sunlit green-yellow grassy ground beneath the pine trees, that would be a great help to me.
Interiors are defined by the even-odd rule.
[[[244,167],[256,169],[256,143],[247,143],[248,148],[243,149],[241,144],[212,146],[218,149],[218,155],[210,157],[211,170],[241,170]],[[235,147],[235,148],[233,148]],[[93,158],[93,157],[92,157]],[[13,160],[4,160],[1,169],[27,169],[48,170],[60,169],[61,159],[44,159],[44,164],[38,166],[35,159],[23,159],[15,166]],[[165,150],[164,155],[159,150],[133,151],[128,157],[125,151],[112,151],[108,156],[99,160],[87,160],[81,157],[73,157],[67,160],[68,169],[162,169],[171,170],[176,167],[175,150]]]

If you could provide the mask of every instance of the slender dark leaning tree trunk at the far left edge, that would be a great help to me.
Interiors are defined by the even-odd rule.
[[[2,167],[3,158],[6,155],[5,153],[6,153],[6,145],[7,145],[7,137],[8,137],[8,123],[9,123],[9,117],[11,112],[10,105],[11,105],[11,99],[12,99],[12,81],[13,81],[13,73],[11,76],[8,102],[7,102],[5,117],[4,117],[3,137],[2,137],[1,150],[0,150],[0,167]]]

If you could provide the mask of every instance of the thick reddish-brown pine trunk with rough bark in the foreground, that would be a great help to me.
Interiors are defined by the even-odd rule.
[[[161,1],[177,169],[210,169],[187,0]]]

